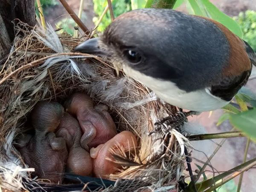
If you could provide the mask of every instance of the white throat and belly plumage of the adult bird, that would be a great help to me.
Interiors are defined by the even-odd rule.
[[[187,93],[173,82],[152,78],[128,66],[123,66],[123,71],[127,76],[154,91],[165,102],[182,109],[204,112],[220,109],[229,103],[211,95],[207,88]]]

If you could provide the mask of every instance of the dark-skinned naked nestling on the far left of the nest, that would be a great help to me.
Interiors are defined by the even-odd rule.
[[[17,148],[31,174],[53,183],[61,183],[68,152],[65,140],[56,138],[54,131],[60,124],[64,108],[56,102],[39,102],[31,113],[35,135],[25,134],[17,141]]]

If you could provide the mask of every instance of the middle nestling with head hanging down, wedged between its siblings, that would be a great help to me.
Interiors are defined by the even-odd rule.
[[[81,176],[90,176],[93,173],[93,159],[80,145],[82,132],[78,121],[65,112],[56,136],[64,138],[67,143],[69,150],[67,171]]]

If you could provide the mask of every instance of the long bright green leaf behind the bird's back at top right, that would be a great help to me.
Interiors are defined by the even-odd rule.
[[[214,4],[209,0],[200,0],[207,12],[210,14],[211,18],[220,22],[222,25],[226,26],[230,31],[236,34],[238,37],[242,38],[242,30],[238,23],[232,18],[221,12]]]

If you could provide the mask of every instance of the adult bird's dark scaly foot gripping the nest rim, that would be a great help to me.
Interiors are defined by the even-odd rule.
[[[195,112],[195,111],[189,111],[189,112],[179,111],[168,117],[162,118],[155,123],[155,128],[153,131],[150,132],[150,135],[152,133],[169,132],[172,128],[176,128],[180,126],[182,123],[184,123],[184,121],[187,120],[188,116],[195,115],[197,113],[198,112]]]

